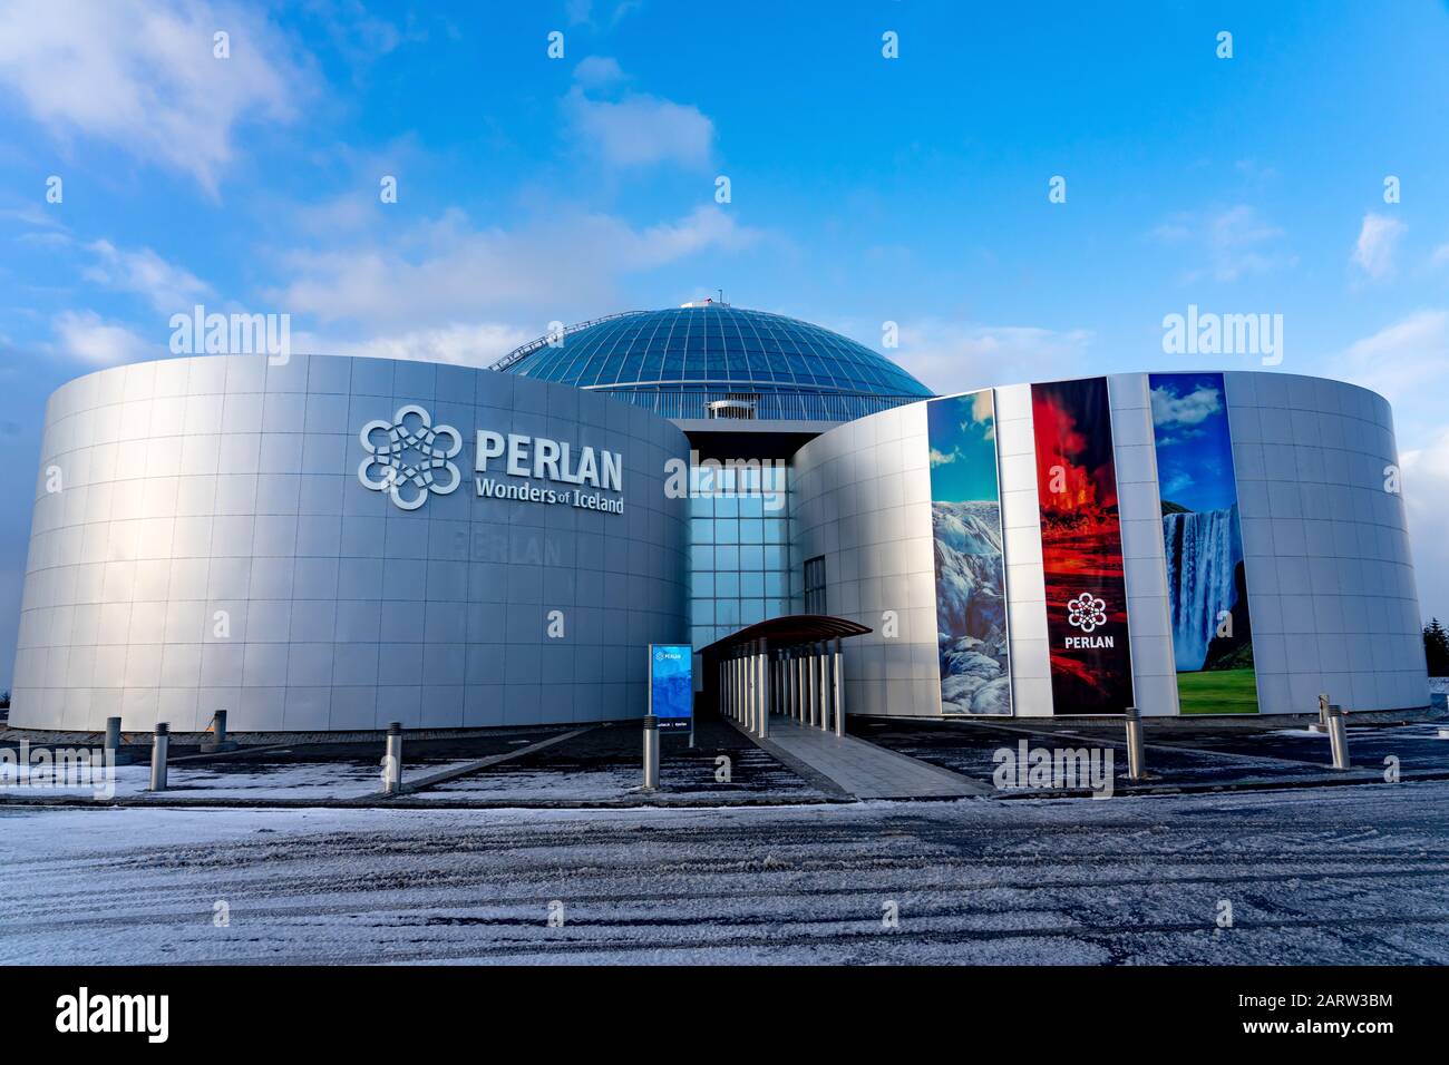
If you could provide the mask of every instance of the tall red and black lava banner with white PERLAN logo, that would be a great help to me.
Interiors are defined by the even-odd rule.
[[[1132,706],[1127,585],[1107,378],[1032,385],[1052,713]]]

